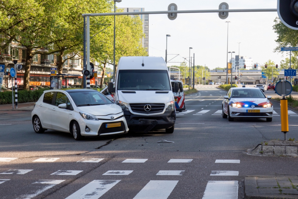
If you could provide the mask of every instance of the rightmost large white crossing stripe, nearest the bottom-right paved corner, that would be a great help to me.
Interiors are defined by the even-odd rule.
[[[237,199],[238,181],[208,181],[202,199]]]

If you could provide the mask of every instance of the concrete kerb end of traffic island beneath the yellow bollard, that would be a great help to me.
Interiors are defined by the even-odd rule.
[[[271,140],[259,144],[254,149],[247,149],[248,155],[298,157],[297,141]]]

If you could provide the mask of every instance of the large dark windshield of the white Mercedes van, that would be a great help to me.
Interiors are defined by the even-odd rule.
[[[167,70],[119,70],[118,90],[170,91]]]

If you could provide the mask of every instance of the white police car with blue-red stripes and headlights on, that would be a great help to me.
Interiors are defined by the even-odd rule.
[[[237,117],[266,118],[272,121],[273,105],[270,96],[259,88],[230,88],[222,104],[222,117],[234,121]]]

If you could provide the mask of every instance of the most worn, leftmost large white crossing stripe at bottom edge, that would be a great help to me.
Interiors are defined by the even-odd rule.
[[[29,191],[27,194],[19,196],[17,199],[31,199],[41,194],[42,192],[51,189],[53,186],[62,183],[65,180],[38,180],[31,184],[34,191]],[[37,188],[37,190],[36,190]],[[29,189],[30,190],[30,189]]]

